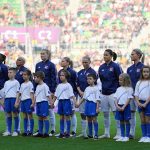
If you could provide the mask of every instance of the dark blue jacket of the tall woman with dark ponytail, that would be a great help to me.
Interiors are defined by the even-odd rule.
[[[119,75],[122,73],[121,67],[111,61],[99,67],[99,77],[102,82],[102,94],[110,95],[116,92],[119,87]]]

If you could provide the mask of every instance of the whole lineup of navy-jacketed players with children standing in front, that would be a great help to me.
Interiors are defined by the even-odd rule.
[[[78,73],[73,70],[70,59],[64,57],[61,61],[63,69],[57,75],[55,65],[49,60],[50,52],[43,50],[42,61],[36,64],[34,80],[31,82],[31,71],[24,67],[24,58],[17,59],[16,71],[15,68],[8,69],[3,64],[5,56],[0,54],[0,98],[4,99],[7,124],[3,135],[18,135],[19,106],[24,117],[23,135],[33,135],[32,112],[35,104],[38,116],[38,133],[35,136],[48,137],[50,126],[51,134],[54,134],[53,108],[58,105],[59,138],[70,137],[71,126],[72,134],[75,136],[77,125],[74,108],[79,107],[84,138],[110,138],[111,109],[117,128],[114,139],[126,142],[135,136],[135,112],[138,106],[142,130],[139,142],[150,142],[150,68],[140,61],[142,55],[139,49],[134,49],[131,53],[131,60],[134,64],[127,69],[127,73],[123,73],[120,65],[114,62],[117,55],[107,49],[104,52],[104,64],[99,67],[98,75],[90,67],[88,56],[82,58],[83,69]],[[101,81],[101,90],[96,85],[98,78]],[[77,97],[80,97],[79,102],[76,100]],[[104,114],[105,132],[104,135],[98,137],[99,107]],[[14,116],[13,133],[12,114]],[[48,115],[50,115],[50,122]],[[28,126],[30,126],[29,131]]]

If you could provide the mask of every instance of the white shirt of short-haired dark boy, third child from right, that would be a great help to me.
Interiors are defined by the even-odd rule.
[[[96,103],[100,101],[100,91],[97,86],[88,86],[83,94],[83,99]]]

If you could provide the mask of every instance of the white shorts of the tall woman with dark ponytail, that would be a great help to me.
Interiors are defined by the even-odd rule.
[[[108,111],[116,111],[115,105],[115,98],[113,97],[114,94],[111,95],[102,95],[101,98],[101,111],[108,112]]]

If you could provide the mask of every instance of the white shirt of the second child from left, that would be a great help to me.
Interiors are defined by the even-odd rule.
[[[27,83],[26,82],[22,83],[19,92],[21,94],[21,101],[30,99],[31,98],[30,94],[33,92],[34,92],[34,88],[31,81]]]

